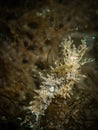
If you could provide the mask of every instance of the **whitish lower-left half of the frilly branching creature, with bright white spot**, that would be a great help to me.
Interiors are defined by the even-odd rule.
[[[30,103],[28,109],[32,111],[36,115],[36,119],[38,120],[39,115],[43,115],[44,111],[47,109],[49,104],[51,103],[52,98],[59,90],[61,84],[64,79],[58,78],[56,75],[46,75],[44,77],[42,74],[41,78],[43,79],[42,85],[40,86],[40,90],[36,90],[38,93],[37,96],[34,97],[34,101]]]

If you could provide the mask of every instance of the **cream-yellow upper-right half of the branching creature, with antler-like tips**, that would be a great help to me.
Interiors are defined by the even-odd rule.
[[[62,84],[57,94],[66,99],[66,97],[71,97],[73,85],[86,77],[82,74],[81,67],[94,61],[94,59],[84,58],[88,49],[85,40],[81,40],[81,45],[78,48],[75,47],[70,37],[64,39],[61,44],[63,48],[62,63],[57,65],[54,71],[58,75],[65,77],[66,82]]]

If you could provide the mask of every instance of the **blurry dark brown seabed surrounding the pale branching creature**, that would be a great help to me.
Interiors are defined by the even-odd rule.
[[[98,130],[98,0],[0,0],[0,130],[32,129],[17,118],[68,36],[76,46],[84,38],[95,61],[83,68],[83,89],[68,104],[56,97],[36,130]]]

